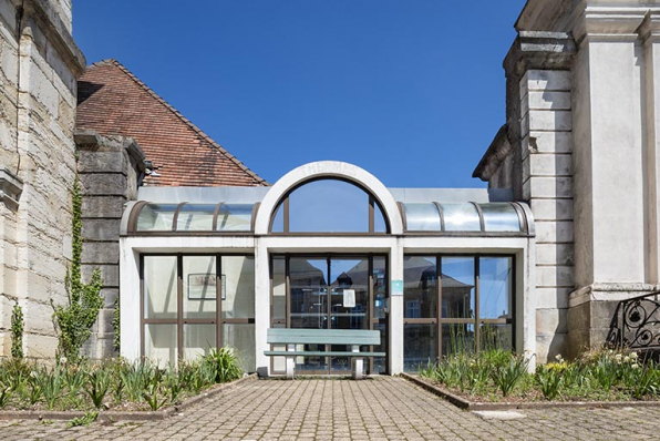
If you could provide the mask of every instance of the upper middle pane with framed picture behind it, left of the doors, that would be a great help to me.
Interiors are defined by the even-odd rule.
[[[183,256],[184,317],[216,318],[216,256]]]

